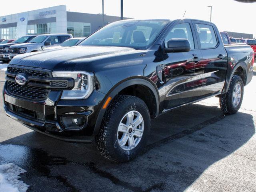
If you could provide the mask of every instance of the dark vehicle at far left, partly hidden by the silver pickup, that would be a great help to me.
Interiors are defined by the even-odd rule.
[[[30,40],[32,40],[34,37],[37,35],[26,35],[21,38],[18,38],[17,40],[6,43],[6,44],[0,44],[0,61],[3,63],[8,63],[10,61],[9,59],[9,54],[10,54],[10,46],[11,45],[16,45],[16,44],[22,44],[22,43],[27,43]]]

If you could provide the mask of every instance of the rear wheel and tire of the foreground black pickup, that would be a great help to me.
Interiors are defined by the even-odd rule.
[[[240,109],[244,96],[244,83],[240,76],[231,79],[228,92],[220,97],[220,108],[224,114],[235,114]]]

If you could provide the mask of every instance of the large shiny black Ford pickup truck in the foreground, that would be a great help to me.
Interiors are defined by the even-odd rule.
[[[95,139],[103,156],[124,162],[144,147],[150,118],[213,96],[236,113],[253,63],[250,46],[224,47],[211,22],[123,20],[80,46],[15,56],[4,109],[60,140]]]

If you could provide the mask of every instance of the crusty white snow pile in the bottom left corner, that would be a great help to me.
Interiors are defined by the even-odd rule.
[[[0,165],[0,192],[26,192],[28,185],[18,180],[26,170],[13,163]]]

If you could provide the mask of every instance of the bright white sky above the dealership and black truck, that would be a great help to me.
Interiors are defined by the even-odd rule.
[[[13,2],[14,3],[14,2]],[[102,0],[22,0],[0,9],[0,16],[66,5],[67,11],[102,13]],[[124,0],[124,17],[130,18],[194,18],[210,20],[219,30],[254,34],[256,37],[256,3],[240,3],[234,0]],[[120,0],[104,0],[104,13],[120,16]]]

